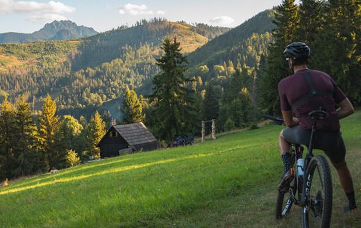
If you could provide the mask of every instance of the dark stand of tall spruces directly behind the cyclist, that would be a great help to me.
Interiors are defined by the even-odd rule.
[[[309,67],[333,77],[354,105],[361,104],[361,8],[355,0],[283,0],[275,8],[274,42],[260,68],[262,105],[278,113],[278,82],[291,74],[283,50],[301,41],[311,49]]]

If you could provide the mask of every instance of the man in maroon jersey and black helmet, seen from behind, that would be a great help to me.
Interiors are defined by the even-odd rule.
[[[279,145],[284,170],[278,189],[287,188],[294,178],[291,169],[291,143],[308,145],[312,120],[310,111],[323,110],[328,116],[317,122],[314,148],[324,150],[339,174],[342,188],[349,199],[344,211],[357,209],[355,192],[349,168],[345,162],[346,148],[339,131],[339,119],[354,110],[344,92],[328,74],[307,67],[310,48],[303,42],[289,44],[285,51],[289,68],[294,72],[278,83],[280,108],[287,126],[280,132]],[[339,108],[336,109],[336,106]]]

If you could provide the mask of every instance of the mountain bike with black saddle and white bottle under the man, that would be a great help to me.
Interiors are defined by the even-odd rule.
[[[330,227],[333,203],[333,188],[330,166],[326,158],[312,154],[314,132],[318,120],[326,117],[324,111],[308,113],[312,119],[312,130],[307,154],[303,159],[303,146],[292,145],[292,171],[294,179],[289,188],[278,190],[276,219],[285,217],[293,204],[301,206],[302,224],[308,227]],[[276,124],[285,125],[281,118],[264,115]]]

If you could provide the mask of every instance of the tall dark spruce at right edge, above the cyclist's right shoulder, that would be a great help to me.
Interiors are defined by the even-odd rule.
[[[329,1],[319,64],[351,101],[361,102],[361,7],[355,0]]]

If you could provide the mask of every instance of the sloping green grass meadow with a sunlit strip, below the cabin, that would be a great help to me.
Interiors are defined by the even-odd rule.
[[[342,121],[346,161],[361,199],[361,110]],[[0,190],[0,227],[288,227],[274,219],[281,127],[268,125],[194,146],[109,158]],[[333,169],[332,227],[360,227]],[[295,225],[299,227],[299,225]]]

